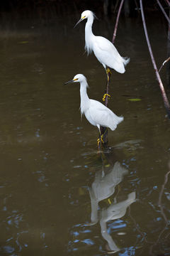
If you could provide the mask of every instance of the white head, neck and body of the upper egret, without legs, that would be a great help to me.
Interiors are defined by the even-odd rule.
[[[87,53],[94,51],[94,55],[105,69],[108,67],[113,68],[118,73],[125,73],[125,65],[130,62],[130,58],[121,57],[113,43],[108,39],[103,38],[103,36],[94,36],[92,31],[94,13],[92,11],[84,11],[77,24],[85,18],[87,18],[85,26],[85,49]]]

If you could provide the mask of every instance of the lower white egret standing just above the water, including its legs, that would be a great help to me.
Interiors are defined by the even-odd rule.
[[[98,144],[100,142],[103,142],[103,134],[101,135],[100,126],[108,127],[112,131],[114,131],[117,125],[123,121],[123,117],[118,117],[101,102],[89,99],[86,92],[86,88],[89,87],[89,85],[84,75],[75,75],[73,80],[70,80],[69,82],[80,82],[81,115],[84,114],[86,119],[92,125],[98,127],[100,133],[100,139],[98,139]],[[65,84],[69,82],[66,82]]]

